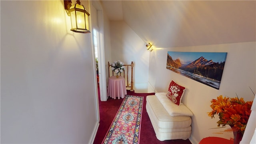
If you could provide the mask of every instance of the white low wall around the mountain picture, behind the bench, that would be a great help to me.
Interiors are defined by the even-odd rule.
[[[207,112],[211,111],[210,100],[220,94],[229,97],[243,97],[252,101],[256,92],[256,42],[219,44],[207,46],[190,46],[176,48],[156,48],[150,53],[149,86],[155,92],[167,92],[171,80],[185,86],[186,92],[182,102],[194,113],[192,116],[192,134],[190,141],[194,144],[202,138],[217,136],[230,139],[233,134],[220,132],[216,128],[218,116],[211,119]],[[228,52],[220,89],[214,89],[200,82],[166,69],[168,51],[181,52]],[[158,58],[159,55],[159,58]],[[250,88],[249,88],[250,87]],[[221,133],[221,134],[220,134]]]

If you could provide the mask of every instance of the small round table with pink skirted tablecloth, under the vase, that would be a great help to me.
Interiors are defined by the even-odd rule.
[[[124,77],[118,76],[111,76],[108,78],[108,96],[111,98],[118,99],[124,98],[127,94],[126,86],[124,82]]]

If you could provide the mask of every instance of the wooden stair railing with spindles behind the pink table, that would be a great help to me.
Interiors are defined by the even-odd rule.
[[[123,66],[125,66],[124,72],[122,72],[122,73],[124,74],[124,79],[127,81],[126,82],[126,88],[130,88],[130,91],[134,91],[134,89],[133,89],[133,66],[134,66],[134,63],[131,62],[131,64],[124,64]],[[108,77],[110,77],[110,67],[112,67],[112,66],[108,62]],[[129,69],[131,70],[131,74],[130,74],[131,83],[130,84],[129,84]],[[127,70],[127,72],[126,72],[126,70]],[[111,69],[111,71],[112,71],[112,69]],[[113,71],[112,71],[112,76],[114,76]],[[121,74],[120,74],[120,76],[121,76]]]

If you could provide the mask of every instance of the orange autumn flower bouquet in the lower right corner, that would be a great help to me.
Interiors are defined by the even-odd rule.
[[[216,99],[211,100],[210,107],[211,112],[208,112],[208,116],[214,118],[215,114],[218,114],[220,120],[217,122],[218,127],[220,125],[230,125],[231,128],[224,130],[224,132],[241,132],[244,134],[246,124],[248,122],[252,101],[244,102],[243,98],[223,98],[222,95]]]

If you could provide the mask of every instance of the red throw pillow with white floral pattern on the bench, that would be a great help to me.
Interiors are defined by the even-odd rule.
[[[168,88],[168,92],[167,92],[166,96],[172,102],[174,102],[174,104],[177,104],[179,106],[185,90],[186,90],[186,88],[184,86],[180,86],[172,80],[172,82],[170,83],[170,86]]]

